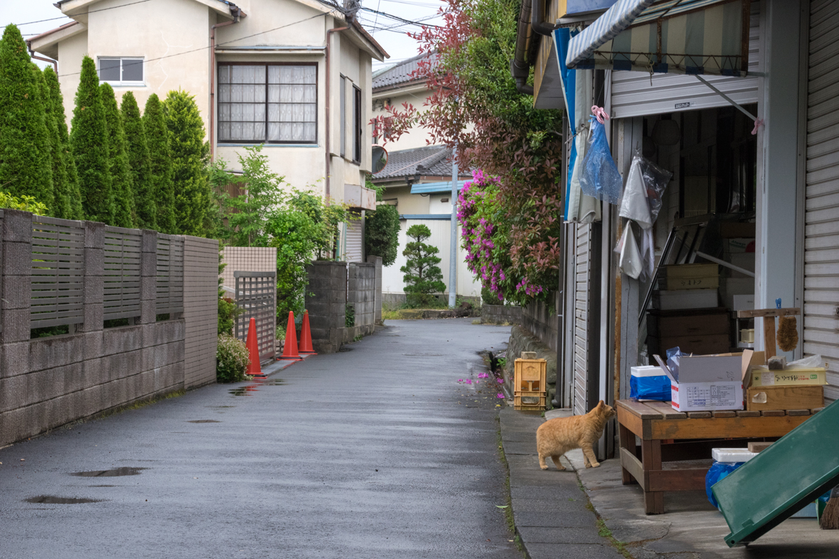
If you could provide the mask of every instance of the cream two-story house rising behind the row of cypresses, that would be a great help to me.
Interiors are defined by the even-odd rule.
[[[316,0],[60,0],[74,21],[29,39],[58,60],[73,112],[81,60],[96,60],[117,97],[142,107],[182,89],[195,96],[214,158],[238,168],[264,144],[274,172],[358,212],[375,207],[371,167],[372,60],[388,54],[352,13]],[[357,224],[359,222],[353,222]],[[362,260],[362,228],[341,230],[340,257]],[[357,248],[356,248],[357,247]]]

